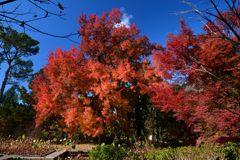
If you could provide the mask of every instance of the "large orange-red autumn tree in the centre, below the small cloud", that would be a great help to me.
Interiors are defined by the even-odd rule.
[[[120,25],[122,13],[113,9],[102,16],[79,16],[79,50],[58,48],[48,56],[44,74],[33,82],[37,104],[36,126],[60,115],[65,131],[79,126],[88,135],[103,134],[112,120],[128,128],[132,92],[146,93],[153,72],[147,56],[160,46],[140,35],[134,24]],[[148,77],[148,80],[146,80]]]

